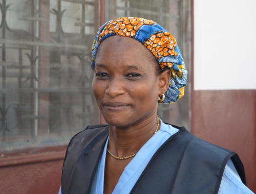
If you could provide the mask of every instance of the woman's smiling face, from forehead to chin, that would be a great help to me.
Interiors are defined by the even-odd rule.
[[[129,37],[112,36],[101,43],[92,89],[109,125],[128,127],[156,113],[161,81],[148,52]]]

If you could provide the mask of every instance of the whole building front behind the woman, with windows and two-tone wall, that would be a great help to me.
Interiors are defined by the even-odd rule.
[[[160,23],[183,54],[185,95],[161,104],[160,118],[236,151],[256,192],[252,0],[1,1],[1,193],[57,193],[70,138],[105,123],[91,90],[92,41],[104,22],[126,16]]]

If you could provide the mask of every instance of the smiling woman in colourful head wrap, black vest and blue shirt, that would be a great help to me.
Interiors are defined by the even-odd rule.
[[[99,29],[92,54],[92,89],[109,125],[71,139],[59,193],[252,193],[236,153],[158,118],[158,102],[177,101],[186,85],[172,35],[119,18]]]

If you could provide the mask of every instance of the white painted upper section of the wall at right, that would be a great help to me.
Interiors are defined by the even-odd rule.
[[[194,0],[195,90],[256,89],[256,0]]]

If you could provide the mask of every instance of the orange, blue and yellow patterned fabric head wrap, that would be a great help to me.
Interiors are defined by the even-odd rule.
[[[186,86],[185,64],[175,38],[156,22],[139,17],[122,17],[104,23],[96,34],[92,46],[92,68],[100,43],[114,35],[131,37],[141,42],[156,57],[162,70],[170,69],[172,75],[163,103],[172,103],[184,95]]]

